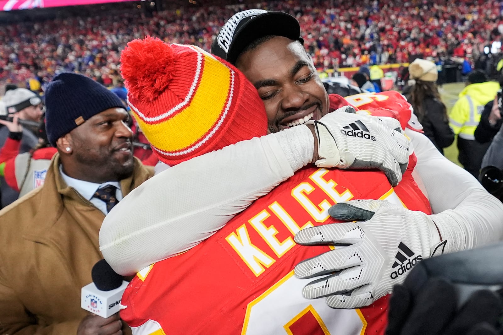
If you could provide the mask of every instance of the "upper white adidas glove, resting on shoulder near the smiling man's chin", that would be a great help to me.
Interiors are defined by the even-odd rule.
[[[345,112],[345,113],[341,113]],[[344,106],[314,124],[318,138],[318,167],[379,169],[389,183],[402,180],[409,158],[410,141],[402,134],[398,120],[354,114]]]

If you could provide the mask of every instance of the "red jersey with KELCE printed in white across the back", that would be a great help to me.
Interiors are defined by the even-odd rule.
[[[294,266],[330,247],[300,246],[293,237],[336,222],[328,208],[351,199],[387,199],[430,213],[410,173],[393,188],[379,171],[297,171],[206,241],[140,271],[124,292],[121,318],[135,335],[383,334],[387,296],[361,309],[302,296],[312,279],[295,277]]]

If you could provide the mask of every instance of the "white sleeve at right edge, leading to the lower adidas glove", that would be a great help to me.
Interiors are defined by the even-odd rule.
[[[415,170],[426,187],[445,252],[503,239],[503,204],[466,170],[450,162],[423,134],[406,130],[417,156]]]

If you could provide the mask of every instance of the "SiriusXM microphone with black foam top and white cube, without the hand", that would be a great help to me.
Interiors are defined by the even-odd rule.
[[[91,278],[93,282],[82,287],[80,307],[105,318],[117,313],[128,282],[104,259],[94,265]]]

